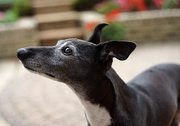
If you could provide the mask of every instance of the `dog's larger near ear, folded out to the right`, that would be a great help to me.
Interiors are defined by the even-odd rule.
[[[99,44],[97,47],[99,48],[103,72],[106,72],[111,67],[113,57],[119,60],[126,60],[136,48],[136,44],[129,41],[109,41]]]

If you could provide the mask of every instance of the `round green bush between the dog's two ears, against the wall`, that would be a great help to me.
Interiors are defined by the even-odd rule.
[[[102,31],[103,40],[122,40],[124,39],[125,29],[120,23],[110,23]]]

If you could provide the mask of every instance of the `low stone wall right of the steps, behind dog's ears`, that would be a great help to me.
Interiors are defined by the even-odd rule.
[[[82,13],[81,19],[83,24],[104,22],[102,15],[93,12]],[[125,27],[125,39],[131,41],[180,41],[180,9],[120,13],[118,21]]]

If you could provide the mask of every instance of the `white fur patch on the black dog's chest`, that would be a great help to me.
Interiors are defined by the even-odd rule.
[[[91,126],[108,126],[111,124],[111,116],[104,107],[100,107],[88,101],[81,102],[85,108],[86,116]]]

